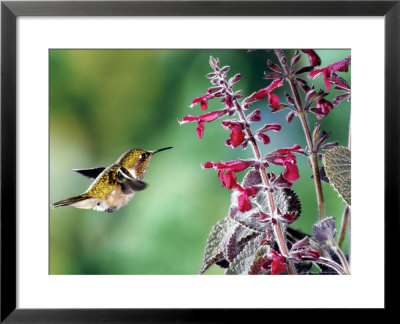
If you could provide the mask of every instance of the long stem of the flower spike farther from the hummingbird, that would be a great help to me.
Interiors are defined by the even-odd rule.
[[[281,50],[275,50],[275,54],[278,57],[278,60],[283,68],[283,71],[285,72],[286,80],[289,82],[290,89],[292,90],[295,105],[297,108],[296,115],[300,118],[301,125],[303,126],[304,135],[307,141],[307,146],[310,150],[310,155],[308,157],[308,160],[310,162],[311,169],[313,172],[315,191],[317,193],[318,215],[319,219],[323,219],[325,217],[324,194],[322,192],[321,177],[319,174],[318,157],[317,153],[314,152],[314,145],[311,137],[310,127],[308,126],[307,122],[306,111],[304,110],[304,107],[301,103],[299,91],[297,90],[297,86],[294,83],[293,75],[290,73],[287,67],[286,58],[283,52]]]

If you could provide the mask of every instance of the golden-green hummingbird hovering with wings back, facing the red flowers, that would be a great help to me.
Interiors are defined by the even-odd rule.
[[[52,207],[73,206],[112,213],[125,206],[137,191],[146,188],[142,179],[153,155],[171,148],[156,151],[134,148],[107,168],[73,169],[94,181],[83,194],[57,201]]]

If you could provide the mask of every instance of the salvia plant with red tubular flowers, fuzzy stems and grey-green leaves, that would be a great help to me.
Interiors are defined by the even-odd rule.
[[[321,212],[324,207],[321,205],[321,178],[327,176],[322,177],[325,169],[318,161],[323,152],[336,148],[338,143],[326,143],[330,134],[321,131],[318,124],[311,132],[305,116],[313,113],[317,119],[322,119],[335,105],[345,99],[350,100],[350,86],[338,72],[348,71],[351,58],[316,68],[321,65],[321,59],[314,50],[302,50],[310,63],[306,66],[297,66],[302,56],[300,51],[296,51],[290,61],[283,50],[274,52],[279,63],[268,60],[270,71],[264,73],[264,79],[272,81],[248,96],[242,90],[234,90],[242,75],[238,73],[229,77],[230,67],[221,66],[218,58],[210,57],[212,71],[206,77],[211,87],[195,97],[189,106],[199,106],[202,113],[187,115],[179,121],[180,124],[197,123],[199,139],[204,136],[206,123],[219,122],[229,132],[225,145],[232,149],[250,146],[253,151],[253,158],[250,159],[208,161],[203,164],[204,169],[215,169],[221,185],[232,190],[232,204],[228,216],[220,220],[210,233],[200,273],[217,264],[227,268],[227,274],[308,274],[311,273],[312,263],[315,263],[321,273],[347,274],[349,265],[334,240],[336,232],[333,233],[331,228],[332,218],[324,218]],[[302,76],[304,74],[308,74],[307,78]],[[328,92],[316,90],[314,85],[309,84],[310,80],[320,75]],[[286,103],[283,103],[274,91],[285,84],[289,85],[291,94],[285,93]],[[326,99],[331,85],[343,91],[333,102]],[[210,100],[220,101],[221,107],[208,111]],[[293,144],[261,155],[260,147],[270,144],[269,134],[280,132],[281,125],[265,123],[253,129],[253,123],[262,121],[262,118],[261,110],[251,111],[251,106],[260,100],[266,100],[272,113],[289,109],[287,123],[296,116],[300,118],[307,140],[306,149]],[[314,227],[319,231],[319,238],[326,234],[323,242],[289,226],[301,212],[300,201],[290,189],[301,176],[297,166],[299,155],[309,160],[313,171],[320,213],[320,220]],[[267,172],[270,165],[282,166],[282,173]],[[240,172],[246,172],[241,183],[237,180],[237,173]],[[332,185],[335,186],[334,183]]]

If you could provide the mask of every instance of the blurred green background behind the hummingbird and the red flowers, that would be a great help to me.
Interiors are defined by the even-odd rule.
[[[286,51],[293,55],[292,50]],[[317,50],[326,66],[350,55],[349,50]],[[123,152],[139,147],[155,150],[144,181],[148,188],[117,212],[63,207],[50,209],[50,274],[196,274],[211,227],[225,217],[230,191],[222,188],[205,161],[252,157],[251,149],[231,149],[224,142],[230,132],[219,121],[207,123],[203,140],[196,123],[179,126],[183,116],[203,113],[191,100],[210,86],[209,56],[230,65],[229,76],[240,72],[236,89],[245,96],[266,87],[267,58],[258,50],[51,50],[50,51],[50,202],[84,192],[90,180],[74,168],[107,166]],[[303,54],[300,64],[308,64]],[[350,81],[350,73],[341,73]],[[306,78],[306,75],[304,75]],[[315,82],[323,88],[322,77]],[[284,101],[287,86],[277,93]],[[332,100],[335,90],[327,97]],[[218,99],[210,109],[221,108]],[[263,153],[297,143],[305,147],[295,118],[286,124],[287,110],[272,114],[266,100],[251,106],[262,110],[262,123],[279,122],[282,130],[269,133]],[[350,104],[341,103],[322,121],[330,140],[347,146]],[[316,122],[309,115],[311,126]],[[310,233],[317,220],[315,189],[306,158],[298,156],[300,179],[293,189],[302,202],[302,215],[293,227]],[[282,167],[271,170],[283,171]],[[326,214],[337,218],[343,203],[323,184]],[[347,239],[345,242],[347,246]],[[222,274],[217,266],[206,274]]]

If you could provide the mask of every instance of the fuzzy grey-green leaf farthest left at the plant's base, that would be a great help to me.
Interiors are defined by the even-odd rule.
[[[235,222],[229,217],[225,217],[217,222],[211,229],[207,239],[207,244],[204,249],[203,264],[199,271],[202,274],[215,262],[223,258],[222,240],[230,227],[234,226]]]

